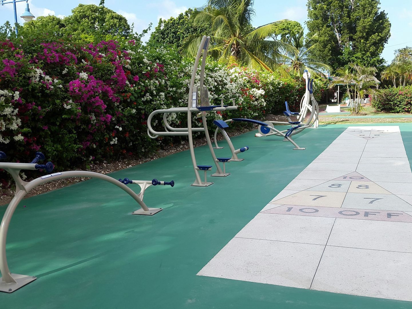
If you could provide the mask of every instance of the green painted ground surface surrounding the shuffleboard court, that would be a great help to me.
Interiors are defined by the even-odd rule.
[[[164,208],[154,216],[131,215],[138,209],[133,199],[99,180],[24,200],[9,229],[9,267],[38,279],[0,293],[0,308],[411,308],[410,302],[196,276],[347,126],[305,130],[295,139],[304,151],[275,136],[235,137],[235,147],[250,146],[239,155],[245,160],[227,164],[232,175],[209,177],[215,183],[206,188],[189,186],[187,151],[112,173],[175,180],[173,188],[146,191],[149,207]],[[411,157],[412,125],[399,126]],[[225,156],[229,149],[216,152]],[[198,164],[212,164],[206,147],[196,153]]]

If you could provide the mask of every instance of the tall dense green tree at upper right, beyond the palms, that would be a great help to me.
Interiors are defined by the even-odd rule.
[[[391,23],[379,5],[379,0],[308,0],[308,36],[319,35],[314,56],[335,69],[382,65]]]

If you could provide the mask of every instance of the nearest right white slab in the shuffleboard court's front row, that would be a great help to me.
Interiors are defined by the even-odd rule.
[[[412,301],[412,253],[326,246],[312,290]]]

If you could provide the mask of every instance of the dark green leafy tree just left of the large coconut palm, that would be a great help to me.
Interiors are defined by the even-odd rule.
[[[176,47],[182,47],[186,40],[193,35],[204,35],[208,33],[208,26],[194,24],[192,9],[180,13],[177,17],[169,19],[159,19],[159,24],[150,35],[148,44],[175,44]]]

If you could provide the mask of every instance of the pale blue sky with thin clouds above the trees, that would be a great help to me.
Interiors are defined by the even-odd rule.
[[[157,26],[159,18],[168,19],[171,16],[185,12],[190,7],[201,7],[207,0],[106,0],[105,6],[122,14],[129,23],[134,23],[136,32],[141,31],[153,23],[152,29]],[[96,4],[100,0],[29,0],[30,12],[35,16],[56,15],[59,17],[70,15],[71,9],[79,3]],[[299,21],[302,26],[307,20],[307,0],[255,0],[256,15],[252,21],[253,26],[281,19]],[[385,45],[382,57],[390,63],[395,49],[412,46],[412,0],[381,0],[381,9],[384,10],[391,21],[391,37]],[[17,19],[24,12],[26,2],[17,3]],[[0,6],[0,24],[7,20],[12,23],[13,5]],[[147,39],[147,36],[146,36]]]

